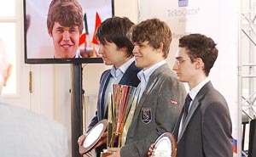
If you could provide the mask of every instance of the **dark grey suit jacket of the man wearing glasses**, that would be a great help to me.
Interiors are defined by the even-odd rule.
[[[177,138],[177,157],[232,157],[230,111],[211,81],[195,96],[183,130]],[[174,134],[177,136],[182,114]]]

